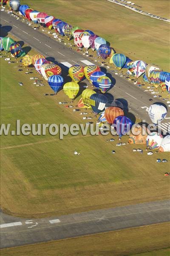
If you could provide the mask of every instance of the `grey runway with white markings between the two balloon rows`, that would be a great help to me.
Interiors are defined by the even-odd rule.
[[[85,57],[85,55],[82,55],[79,52],[74,52],[64,44],[50,38],[48,34],[45,35],[39,30],[34,30],[31,26],[28,26],[26,22],[17,20],[14,16],[11,16],[7,12],[1,12],[0,23],[4,28],[7,29],[9,29],[9,26],[11,26],[11,34],[17,38],[20,38],[20,40],[24,41],[32,48],[45,55],[45,57],[51,57],[53,58],[53,61],[55,59],[55,61],[57,61],[61,67],[69,67],[74,64],[97,64],[97,62],[91,61],[91,59]],[[125,107],[128,108],[129,112],[137,117],[140,117],[141,120],[144,119],[147,123],[150,123],[147,110],[151,104],[155,102],[166,104],[166,102],[161,101],[161,99],[153,98],[152,94],[144,92],[143,89],[130,83],[124,78],[115,75],[111,70],[105,71],[107,72],[108,76],[112,76],[112,81],[114,84],[111,90],[109,90],[109,93],[113,94],[114,99],[121,99],[123,102],[125,102],[124,105],[126,105]],[[150,98],[153,99],[152,103],[149,101]],[[170,125],[169,112],[170,111],[168,109],[167,119],[164,119],[160,127],[162,131],[165,132],[168,131],[168,125]]]

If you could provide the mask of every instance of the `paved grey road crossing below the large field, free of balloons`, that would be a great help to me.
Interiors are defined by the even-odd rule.
[[[167,221],[170,221],[169,200],[34,220],[2,213],[0,245],[14,247]]]

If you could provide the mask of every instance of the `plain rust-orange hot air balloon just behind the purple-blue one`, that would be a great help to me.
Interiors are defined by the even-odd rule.
[[[117,116],[124,116],[124,112],[121,108],[118,107],[109,107],[105,110],[105,118],[107,122],[112,125],[114,122],[114,119]]]

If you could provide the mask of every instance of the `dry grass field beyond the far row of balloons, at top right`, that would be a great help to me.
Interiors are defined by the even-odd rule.
[[[168,1],[143,1],[146,6],[168,10]],[[169,23],[135,13],[105,0],[22,0],[33,9],[47,12],[73,26],[91,29],[104,37],[116,52],[133,60],[141,59],[160,65],[164,71],[169,66]],[[160,7],[161,4],[161,8]],[[142,6],[142,5],[141,5]],[[103,11],[105,10],[105,11]]]

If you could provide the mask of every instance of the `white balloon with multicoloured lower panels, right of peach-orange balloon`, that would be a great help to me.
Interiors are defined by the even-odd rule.
[[[163,136],[161,134],[158,134],[157,132],[151,132],[149,135],[147,135],[146,138],[146,145],[149,149],[156,149],[159,148],[163,140]]]

